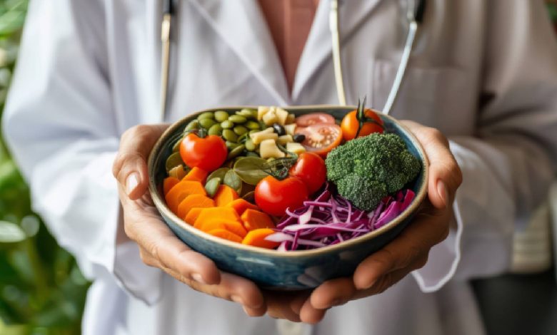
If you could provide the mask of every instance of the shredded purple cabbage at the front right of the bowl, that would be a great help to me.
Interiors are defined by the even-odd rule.
[[[303,202],[296,210],[286,210],[276,233],[266,239],[280,242],[278,251],[337,244],[383,227],[406,210],[414,196],[412,190],[401,190],[394,197],[385,197],[372,212],[365,212],[326,185],[314,200]]]

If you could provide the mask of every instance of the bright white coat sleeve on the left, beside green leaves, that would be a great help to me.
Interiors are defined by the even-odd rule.
[[[154,302],[158,286],[145,283],[152,284],[159,270],[141,264],[137,252],[131,257],[129,245],[116,250],[120,205],[111,167],[120,134],[103,6],[96,0],[31,1],[4,135],[29,182],[34,210],[84,274],[114,273],[136,297]]]

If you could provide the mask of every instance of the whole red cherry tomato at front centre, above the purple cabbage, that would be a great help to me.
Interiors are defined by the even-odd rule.
[[[255,199],[261,210],[281,217],[287,208],[296,210],[303,206],[303,202],[308,200],[308,189],[298,177],[278,180],[269,175],[257,184]]]

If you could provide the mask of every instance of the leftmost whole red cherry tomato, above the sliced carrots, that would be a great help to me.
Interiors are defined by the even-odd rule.
[[[180,143],[180,156],[190,168],[200,168],[211,172],[221,167],[228,155],[226,143],[220,136],[209,135],[200,138],[189,133]]]

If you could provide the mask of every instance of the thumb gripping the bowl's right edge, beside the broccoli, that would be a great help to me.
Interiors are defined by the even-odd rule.
[[[437,208],[445,208],[462,182],[462,172],[439,130],[403,121],[421,143],[429,160],[428,197]]]

